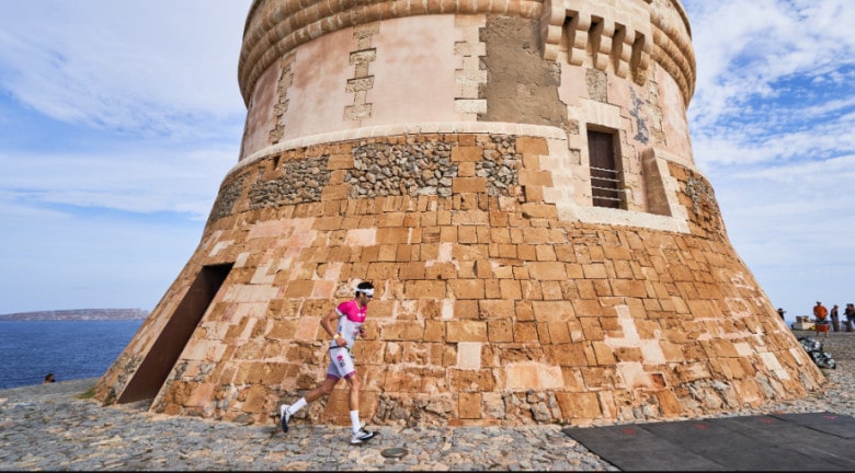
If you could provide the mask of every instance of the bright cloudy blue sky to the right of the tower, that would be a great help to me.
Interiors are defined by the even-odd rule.
[[[855,2],[684,0],[695,161],[728,235],[788,318],[852,302]]]

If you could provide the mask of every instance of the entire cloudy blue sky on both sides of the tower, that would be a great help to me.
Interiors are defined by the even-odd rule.
[[[251,0],[29,0],[0,15],[0,314],[151,310],[246,107]],[[683,0],[697,168],[787,319],[855,302],[855,1]]]

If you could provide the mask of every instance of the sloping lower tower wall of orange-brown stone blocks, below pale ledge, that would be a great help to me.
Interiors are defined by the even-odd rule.
[[[547,141],[377,136],[236,170],[200,249],[100,395],[122,391],[195,274],[223,263],[233,268],[153,412],[272,422],[323,378],[319,320],[361,280],[377,287],[355,349],[363,416],[375,424],[703,416],[821,387],[727,241],[703,176],[666,168],[687,232],[561,220],[522,184],[549,185],[534,159]],[[341,383],[300,415],[346,423],[345,393]]]

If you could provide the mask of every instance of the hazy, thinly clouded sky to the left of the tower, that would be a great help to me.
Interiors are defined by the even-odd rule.
[[[238,160],[250,3],[3,4],[0,313],[153,308]]]

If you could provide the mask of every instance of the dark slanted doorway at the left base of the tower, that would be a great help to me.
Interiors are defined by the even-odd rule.
[[[116,402],[153,399],[175,366],[202,315],[226,280],[232,264],[203,266],[172,318]]]

